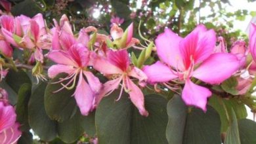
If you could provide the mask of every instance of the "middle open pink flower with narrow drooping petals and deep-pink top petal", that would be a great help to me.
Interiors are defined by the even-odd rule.
[[[125,90],[125,92],[129,93],[133,104],[139,109],[140,115],[148,116],[148,111],[144,107],[144,96],[140,88],[130,78],[139,79],[139,84],[144,86],[143,82],[146,81],[147,77],[137,67],[130,66],[127,50],[115,52],[109,50],[106,58],[100,56],[96,58],[93,67],[107,77],[112,77],[112,80],[103,84],[103,88],[96,99],[97,104],[104,96],[116,90],[119,84],[122,83],[121,92],[117,99],[120,99],[123,90]]]

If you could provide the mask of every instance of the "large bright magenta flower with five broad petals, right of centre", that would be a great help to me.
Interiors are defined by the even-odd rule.
[[[156,39],[161,62],[144,67],[148,82],[154,84],[179,78],[185,83],[182,99],[186,105],[194,105],[206,111],[207,98],[211,96],[211,92],[194,84],[190,78],[194,77],[209,84],[220,84],[240,67],[238,58],[233,54],[213,54],[215,42],[215,31],[207,31],[203,25],[196,27],[184,38],[170,29],[165,29]]]

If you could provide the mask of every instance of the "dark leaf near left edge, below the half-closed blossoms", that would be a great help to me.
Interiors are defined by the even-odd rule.
[[[18,90],[20,90],[20,86],[22,86],[22,84],[24,84],[24,83],[32,84],[30,77],[28,77],[28,75],[22,70],[19,70],[19,71],[10,70],[7,74],[5,82],[7,82],[7,84],[9,84],[9,86],[17,94],[18,94]]]

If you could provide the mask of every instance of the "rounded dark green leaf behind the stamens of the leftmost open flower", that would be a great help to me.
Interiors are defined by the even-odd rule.
[[[62,88],[59,83],[53,84],[53,82],[60,81],[60,78],[66,77],[66,74],[60,74],[56,76],[53,80],[49,81],[45,89],[45,111],[47,115],[57,121],[67,120],[71,118],[75,113],[75,99],[72,97],[75,88],[72,90],[67,90],[64,88],[60,92],[55,92]],[[66,84],[67,81],[62,83]]]

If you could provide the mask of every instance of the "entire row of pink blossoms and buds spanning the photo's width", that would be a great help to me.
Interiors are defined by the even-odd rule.
[[[113,19],[114,21],[114,19]],[[217,39],[213,29],[200,24],[186,37],[179,37],[171,29],[165,29],[156,38],[156,46],[137,46],[139,39],[133,37],[133,24],[125,31],[112,22],[110,35],[98,33],[96,27],[85,27],[74,31],[68,17],[63,15],[60,22],[53,20],[53,27],[45,24],[42,14],[33,18],[27,16],[1,16],[0,50],[5,58],[12,58],[12,47],[30,53],[37,61],[35,70],[45,59],[53,61],[48,77],[53,79],[60,73],[68,74],[56,83],[62,88],[75,89],[74,98],[82,115],[89,115],[104,96],[120,88],[129,94],[140,115],[147,117],[142,88],[157,84],[181,94],[186,105],[207,111],[207,98],[212,95],[211,86],[219,85],[230,77],[238,79],[239,94],[245,94],[255,73],[255,61],[247,62],[252,56],[256,60],[256,26],[251,25],[249,49],[244,41],[237,41],[227,50],[224,39]],[[120,22],[119,22],[120,21]],[[143,38],[144,39],[144,38]],[[148,44],[148,40],[146,40]],[[217,41],[219,45],[216,45]],[[141,44],[140,44],[141,45]],[[128,48],[139,48],[139,58]],[[43,54],[43,50],[46,50]],[[151,51],[156,50],[159,60],[145,65]],[[39,63],[39,64],[38,64]],[[4,65],[4,64],[2,64]],[[1,65],[4,77],[7,69]],[[241,77],[249,71],[249,79]],[[37,71],[41,74],[42,71]],[[108,79],[102,82],[96,73]],[[66,82],[68,81],[68,82]],[[65,83],[64,83],[65,82]]]

